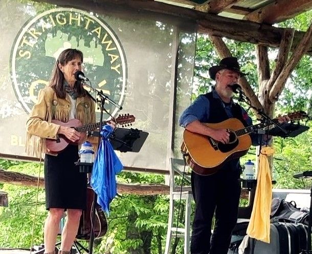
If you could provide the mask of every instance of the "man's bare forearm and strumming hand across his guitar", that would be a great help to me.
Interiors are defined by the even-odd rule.
[[[186,126],[186,129],[190,132],[206,135],[213,138],[216,141],[220,141],[224,144],[229,142],[230,133],[226,129],[212,129],[199,121],[193,121]]]

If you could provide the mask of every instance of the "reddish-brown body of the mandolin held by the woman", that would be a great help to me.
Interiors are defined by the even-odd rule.
[[[81,126],[82,123],[78,119],[71,119],[68,122],[61,122],[58,120],[52,120],[52,123],[59,124],[62,126],[68,126],[71,128],[76,128]],[[72,143],[68,138],[64,135],[58,135],[58,139],[46,139],[46,147],[49,151],[53,153],[58,153],[66,148],[69,143]]]

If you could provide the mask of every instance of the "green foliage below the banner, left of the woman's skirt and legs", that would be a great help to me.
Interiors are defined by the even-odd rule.
[[[0,160],[8,171],[36,175],[39,164]],[[41,168],[42,170],[42,168]],[[34,243],[43,241],[43,222],[46,216],[44,191],[39,189],[37,215],[35,217],[36,188],[3,184],[1,190],[9,195],[9,207],[0,207],[0,247],[29,248],[34,227]]]

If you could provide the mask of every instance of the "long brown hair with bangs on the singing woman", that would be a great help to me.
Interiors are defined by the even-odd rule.
[[[59,57],[57,58],[57,61],[55,62],[51,79],[49,82],[49,87],[51,87],[58,98],[65,99],[66,98],[66,91],[64,86],[64,74],[61,72],[61,70],[58,67],[58,64],[61,64],[61,66],[65,66],[69,61],[75,59],[76,57],[79,57],[81,59],[81,62],[83,62],[83,54],[80,50],[77,49],[65,49],[63,50]],[[82,97],[86,95],[85,90],[82,87],[81,82],[78,80],[75,82],[74,89],[77,92],[77,97]]]

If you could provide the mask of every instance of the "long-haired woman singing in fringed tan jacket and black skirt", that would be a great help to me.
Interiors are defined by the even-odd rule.
[[[78,161],[78,144],[86,140],[85,133],[52,123],[53,119],[67,122],[78,119],[82,124],[95,123],[95,106],[74,73],[81,71],[83,54],[76,49],[62,51],[55,63],[47,88],[39,91],[37,103],[26,123],[28,154],[44,157],[46,208],[44,223],[45,253],[54,253],[60,219],[66,210],[67,218],[61,236],[59,253],[70,253],[77,235],[82,209],[86,208],[86,173],[80,173],[74,162]],[[60,153],[46,150],[46,138],[57,139],[62,134],[75,144]]]

